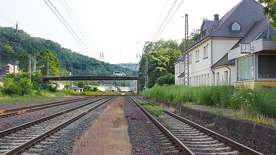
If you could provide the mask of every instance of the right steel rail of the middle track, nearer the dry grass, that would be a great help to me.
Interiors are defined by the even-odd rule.
[[[112,98],[114,98],[114,97],[116,97],[116,96],[117,96],[117,95],[111,96],[109,99],[107,99],[107,100],[105,100],[105,101],[103,101],[103,102],[97,104],[96,106],[93,106],[92,108],[86,110],[85,112],[82,112],[81,114],[79,114],[79,115],[77,115],[77,116],[75,116],[75,117],[73,117],[73,118],[71,118],[71,119],[69,119],[69,120],[63,122],[62,124],[60,124],[60,125],[58,125],[58,126],[52,128],[51,130],[48,130],[47,132],[44,132],[43,134],[41,134],[41,135],[39,135],[39,136],[37,136],[37,137],[35,137],[35,138],[29,140],[29,141],[27,141],[27,142],[25,142],[25,143],[23,143],[23,144],[17,146],[16,148],[13,148],[13,149],[11,149],[11,150],[5,152],[3,155],[13,155],[13,154],[16,154],[17,152],[23,150],[24,148],[27,148],[28,146],[31,146],[33,143],[35,143],[35,142],[41,140],[41,139],[44,138],[45,136],[48,136],[49,134],[51,134],[51,133],[53,133],[53,132],[59,130],[59,129],[62,128],[63,126],[65,126],[65,125],[67,125],[67,124],[73,122],[74,120],[80,118],[81,116],[87,114],[87,113],[90,112],[91,110],[94,110],[94,109],[98,108],[99,106],[101,106],[102,104],[104,104],[105,102],[111,100]],[[106,98],[107,98],[107,97],[106,97]]]

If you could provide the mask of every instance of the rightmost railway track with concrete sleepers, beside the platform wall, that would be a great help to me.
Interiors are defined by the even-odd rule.
[[[225,136],[215,133],[203,126],[191,122],[181,116],[178,116],[165,109],[160,116],[165,117],[165,120],[157,121],[154,116],[151,116],[141,105],[133,98],[138,98],[134,95],[127,94],[139,108],[155,122],[159,128],[163,130],[179,148],[189,155],[194,154],[210,154],[210,155],[232,155],[232,154],[252,154],[262,155],[261,153],[248,148],[238,142],[235,142]],[[145,101],[145,100],[144,100]],[[147,102],[147,101],[146,101]],[[147,102],[152,106],[156,106]]]

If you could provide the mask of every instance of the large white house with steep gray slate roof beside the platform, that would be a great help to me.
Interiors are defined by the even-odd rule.
[[[242,0],[221,19],[215,14],[213,21],[203,21],[197,41],[189,47],[191,86],[216,85],[221,82],[233,85],[236,82],[235,60],[229,59],[228,51],[249,35],[258,21],[265,18],[262,9],[263,6],[254,0]],[[178,62],[182,63],[181,57],[175,67]],[[180,65],[175,73],[181,69],[184,69],[184,65]],[[184,80],[184,71],[176,76],[175,82],[182,84],[177,82],[177,78],[179,81]]]

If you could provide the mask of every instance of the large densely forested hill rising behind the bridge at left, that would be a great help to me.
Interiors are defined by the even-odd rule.
[[[15,33],[13,27],[0,27],[0,65],[10,63],[18,64],[21,55],[29,55],[34,62],[34,53],[39,53],[44,49],[50,50],[59,59],[60,73],[81,73],[81,72],[101,72],[113,73],[113,71],[123,71],[124,73],[137,73],[119,65],[111,65],[97,59],[84,56],[70,49],[62,48],[58,43],[38,37],[31,37],[23,30]]]

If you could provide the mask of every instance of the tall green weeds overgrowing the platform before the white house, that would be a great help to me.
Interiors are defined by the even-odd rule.
[[[264,115],[276,117],[276,90],[273,87],[256,86],[199,86],[184,85],[154,86],[141,92],[141,95],[154,100],[177,104],[194,102],[220,108],[240,109],[248,116]]]

